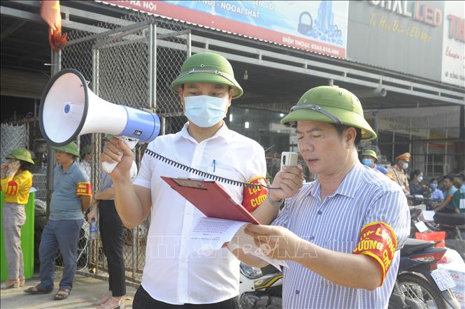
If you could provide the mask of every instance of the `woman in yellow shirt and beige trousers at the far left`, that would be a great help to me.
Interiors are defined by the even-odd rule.
[[[2,224],[8,280],[1,284],[1,289],[24,285],[21,228],[26,221],[24,205],[29,199],[29,190],[32,186],[29,166],[34,164],[31,152],[24,148],[16,148],[6,159],[9,160],[1,164],[1,191],[5,194]]]

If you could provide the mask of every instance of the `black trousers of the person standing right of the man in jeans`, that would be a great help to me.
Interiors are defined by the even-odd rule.
[[[109,290],[115,297],[126,295],[126,268],[122,256],[124,224],[116,212],[115,201],[99,201],[99,229],[108,262]]]

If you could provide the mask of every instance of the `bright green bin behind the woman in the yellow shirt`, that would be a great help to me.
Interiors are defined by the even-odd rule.
[[[8,268],[6,267],[6,257],[5,257],[5,245],[3,238],[3,220],[1,220],[3,215],[3,191],[0,192],[0,224],[1,224],[1,243],[0,243],[0,280],[8,280]],[[32,278],[34,275],[34,201],[36,196],[34,192],[29,193],[29,201],[24,206],[26,213],[26,222],[21,229],[21,247],[22,247],[22,259],[24,262],[24,277],[26,279]]]

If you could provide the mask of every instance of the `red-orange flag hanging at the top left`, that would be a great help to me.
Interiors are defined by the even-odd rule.
[[[62,35],[62,15],[59,1],[41,1],[41,17],[48,23],[48,41],[56,52],[66,45],[66,34]]]

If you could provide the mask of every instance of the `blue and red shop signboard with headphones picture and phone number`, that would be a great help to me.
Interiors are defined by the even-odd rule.
[[[100,1],[345,59],[348,1]]]

